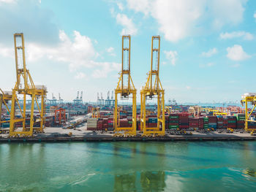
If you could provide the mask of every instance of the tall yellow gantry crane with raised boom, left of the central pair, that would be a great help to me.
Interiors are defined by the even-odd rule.
[[[45,126],[45,97],[47,90],[44,85],[34,85],[29,70],[26,69],[23,33],[14,34],[14,44],[17,82],[12,89],[10,137],[31,137],[34,131],[43,132]],[[23,96],[23,106],[20,106],[18,96]],[[31,96],[29,125],[26,125],[27,96]],[[38,110],[39,116],[34,115],[35,108]],[[18,110],[18,112],[16,110]],[[38,122],[40,126],[34,127],[34,123]],[[18,124],[22,124],[22,131],[17,129]]]

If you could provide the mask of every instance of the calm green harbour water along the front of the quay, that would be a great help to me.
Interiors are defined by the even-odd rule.
[[[256,191],[256,142],[1,144],[0,191]]]

